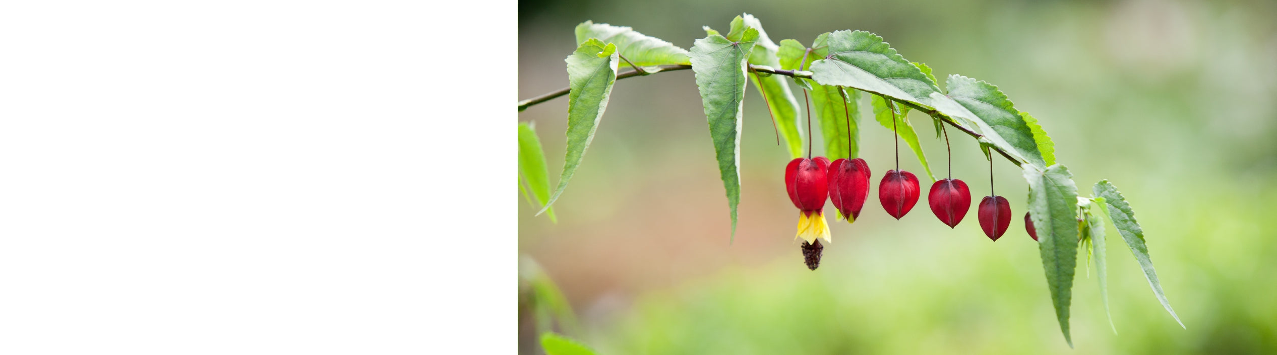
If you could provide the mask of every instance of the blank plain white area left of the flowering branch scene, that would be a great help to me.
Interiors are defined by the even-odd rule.
[[[464,5],[0,5],[0,354],[516,351],[517,4]]]

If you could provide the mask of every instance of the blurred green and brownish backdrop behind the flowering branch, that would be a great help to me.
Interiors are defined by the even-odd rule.
[[[729,244],[701,100],[683,70],[617,82],[554,206],[557,225],[511,197],[520,204],[520,252],[554,278],[580,319],[562,329],[568,336],[610,355],[1277,354],[1277,3],[521,1],[518,98],[567,86],[563,57],[584,20],[688,49],[705,37],[701,26],[725,31],[741,13],[759,17],[776,42],[865,29],[939,78],[997,84],[1041,120],[1082,195],[1101,179],[1126,195],[1188,328],[1157,303],[1110,229],[1119,333],[1082,257],[1070,350],[1019,218],[992,243],[974,211],[950,230],[926,195],[899,221],[882,211],[876,185],[893,167],[893,137],[870,116],[861,119],[861,156],[873,171],[871,197],[854,225],[830,216],[834,243],[808,271],[782,179],[789,156],[775,146],[752,86],[739,227]],[[536,123],[552,179],[563,163],[566,114],[563,97],[518,115]],[[911,117],[944,178],[944,142],[932,139],[926,116]],[[988,194],[987,161],[973,139],[953,138],[953,176],[978,202]],[[902,148],[902,169],[921,174]],[[1023,215],[1019,170],[999,157],[995,181]],[[539,354],[525,303],[520,352]]]

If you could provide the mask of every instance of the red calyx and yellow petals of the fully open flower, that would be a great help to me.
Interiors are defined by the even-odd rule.
[[[829,160],[825,157],[796,158],[785,166],[785,190],[798,213],[798,235],[807,243],[817,238],[830,241],[825,223],[825,199],[829,198]]]

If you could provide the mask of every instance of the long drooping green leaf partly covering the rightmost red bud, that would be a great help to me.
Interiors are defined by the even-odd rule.
[[[1029,218],[1038,235],[1038,252],[1046,283],[1051,291],[1056,319],[1064,340],[1073,347],[1069,335],[1069,305],[1073,300],[1073,275],[1078,266],[1078,186],[1073,174],[1062,165],[1046,171],[1033,165],[1022,166],[1029,184]]]

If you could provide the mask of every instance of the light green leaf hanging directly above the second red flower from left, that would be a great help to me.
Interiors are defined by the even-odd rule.
[[[856,89],[848,92],[842,87],[812,86],[811,102],[825,137],[825,157],[830,161],[853,158],[859,153],[859,97]]]

